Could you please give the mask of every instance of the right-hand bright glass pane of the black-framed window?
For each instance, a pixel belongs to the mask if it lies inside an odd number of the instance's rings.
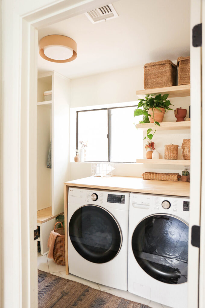
[[[134,118],[135,109],[110,109],[110,161],[134,163],[143,158],[143,132],[134,125],[142,117]]]

